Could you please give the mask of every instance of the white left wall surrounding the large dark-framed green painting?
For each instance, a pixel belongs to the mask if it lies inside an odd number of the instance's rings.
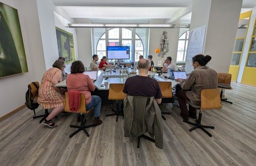
[[[36,1],[0,0],[18,9],[28,73],[0,78],[0,117],[25,103],[25,92],[32,81],[40,81],[46,69]]]

